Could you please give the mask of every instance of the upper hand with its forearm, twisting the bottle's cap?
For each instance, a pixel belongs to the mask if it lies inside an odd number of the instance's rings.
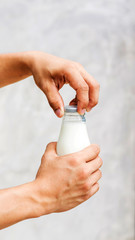
[[[78,113],[84,114],[98,103],[99,84],[80,63],[36,51],[0,55],[0,87],[31,75],[58,117],[64,114],[59,93],[64,84],[76,91],[70,104],[77,104]]]

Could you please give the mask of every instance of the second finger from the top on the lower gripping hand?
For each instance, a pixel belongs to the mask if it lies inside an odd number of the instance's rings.
[[[87,163],[87,172],[89,175],[97,171],[103,164],[102,159],[98,156],[94,160]]]

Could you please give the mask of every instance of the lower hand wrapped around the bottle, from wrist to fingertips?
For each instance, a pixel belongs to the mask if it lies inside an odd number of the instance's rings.
[[[62,212],[89,199],[99,189],[102,160],[98,145],[58,156],[56,143],[47,145],[34,188],[40,215]]]

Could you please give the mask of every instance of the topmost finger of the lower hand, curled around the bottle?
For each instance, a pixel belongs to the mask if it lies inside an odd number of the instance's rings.
[[[99,146],[97,144],[91,144],[79,152],[70,154],[70,157],[76,158],[83,162],[89,162],[95,159],[99,155],[99,153]]]

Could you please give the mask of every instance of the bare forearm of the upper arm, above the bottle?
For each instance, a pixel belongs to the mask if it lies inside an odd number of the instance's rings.
[[[31,76],[28,61],[28,52],[0,54],[0,87]]]

